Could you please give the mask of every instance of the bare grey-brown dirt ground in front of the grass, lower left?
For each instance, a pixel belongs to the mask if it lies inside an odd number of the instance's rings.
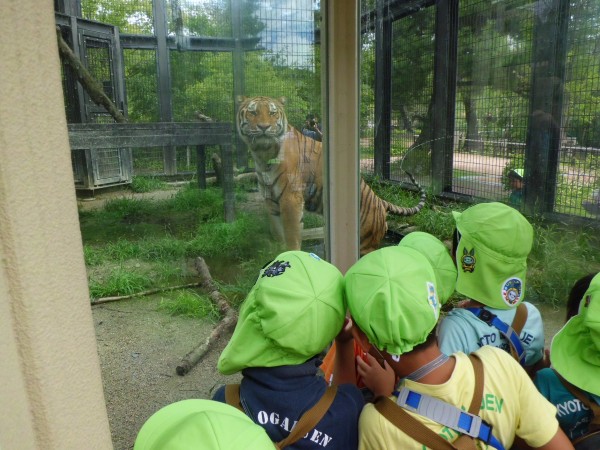
[[[104,396],[115,450],[133,448],[146,419],[178,400],[210,398],[239,376],[223,376],[216,364],[229,336],[222,336],[186,375],[176,367],[204,342],[214,324],[158,310],[160,296],[92,307]]]

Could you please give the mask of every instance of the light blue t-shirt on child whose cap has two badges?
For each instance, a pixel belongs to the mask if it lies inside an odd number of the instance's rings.
[[[544,357],[544,325],[540,311],[531,303],[527,306],[527,321],[519,338],[525,349],[525,365],[531,366]],[[510,325],[517,309],[495,309],[485,307],[500,320]],[[471,311],[454,308],[440,322],[438,327],[440,350],[451,355],[456,352],[472,353],[484,345],[493,345],[510,351],[510,344],[497,328],[480,320]]]

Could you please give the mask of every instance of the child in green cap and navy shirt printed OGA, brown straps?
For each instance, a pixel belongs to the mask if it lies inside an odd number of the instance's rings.
[[[324,397],[328,387],[317,376],[318,355],[342,329],[345,313],[342,274],[312,253],[284,252],[260,271],[218,369],[242,371],[239,400],[233,403],[274,442],[287,438]],[[213,399],[225,401],[225,388]],[[356,386],[338,386],[322,419],[287,448],[356,448],[363,403]]]

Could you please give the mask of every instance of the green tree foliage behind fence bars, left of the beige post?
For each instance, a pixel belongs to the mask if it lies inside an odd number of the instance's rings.
[[[166,1],[166,0],[165,0]],[[237,0],[235,0],[237,1]],[[265,23],[260,20],[259,0],[236,3],[240,29],[232,26],[229,0],[166,1],[169,34],[179,44],[193,37],[239,38],[258,42],[245,52],[244,85],[247,96],[286,97],[290,123],[301,128],[307,114],[321,115],[320,52],[297,58],[297,49],[261,48]],[[121,33],[153,34],[151,0],[83,0],[84,17],[120,28]],[[317,16],[314,16],[318,20]],[[285,20],[282,18],[281,20]],[[249,41],[248,41],[249,40]],[[154,50],[124,51],[128,116],[132,122],[158,120],[158,76]],[[231,52],[170,52],[171,95],[175,121],[197,120],[196,112],[217,121],[234,117],[233,56]]]

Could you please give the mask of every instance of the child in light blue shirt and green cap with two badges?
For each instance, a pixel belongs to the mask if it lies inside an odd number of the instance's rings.
[[[467,300],[441,321],[440,349],[447,355],[469,354],[493,345],[511,352],[533,375],[545,364],[541,314],[523,302],[533,228],[503,203],[481,203],[453,214],[456,291]]]

